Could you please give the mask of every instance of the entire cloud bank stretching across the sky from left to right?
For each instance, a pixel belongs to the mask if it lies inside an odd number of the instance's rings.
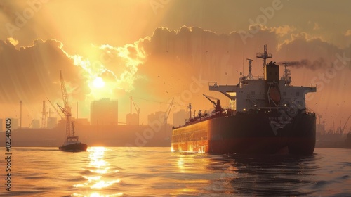
[[[62,42],[55,39],[37,39],[32,46],[20,48],[16,47],[15,39],[7,39],[0,42],[4,71],[0,73],[4,80],[0,89],[5,92],[0,102],[18,103],[22,99],[40,103],[45,97],[60,100],[58,71],[62,70],[70,101],[85,101],[87,114],[90,101],[110,97],[119,100],[123,116],[131,95],[153,101],[176,97],[182,105],[193,102],[196,106],[211,107],[201,95],[220,94],[209,92],[208,82],[237,83],[240,72],[247,75],[246,58],[253,59],[253,75],[262,75],[262,62],[256,53],[263,51],[263,44],[273,55],[270,60],[289,61],[291,67],[298,68],[292,72],[297,77],[310,71],[323,72],[333,65],[337,54],[343,56],[346,51],[348,57],[351,51],[296,32],[295,27],[288,25],[251,28],[259,29],[244,42],[239,31],[217,34],[200,27],[183,26],[178,30],[159,27],[149,37],[131,44],[91,44],[79,54],[67,53]],[[306,83],[314,75],[307,76]],[[107,88],[94,87],[93,81],[98,77]],[[339,78],[343,79],[338,77],[335,81]],[[139,105],[147,108],[145,103]],[[147,109],[143,111],[148,113]]]

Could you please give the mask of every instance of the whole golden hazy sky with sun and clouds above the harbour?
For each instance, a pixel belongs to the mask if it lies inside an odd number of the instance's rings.
[[[317,84],[307,106],[338,126],[351,111],[350,7],[346,0],[0,0],[0,117],[18,117],[22,100],[25,126],[41,118],[46,97],[62,103],[59,70],[79,117],[104,97],[119,100],[125,122],[134,96],[144,125],[173,97],[173,112],[190,102],[211,108],[202,94],[223,97],[207,83],[237,84],[246,58],[262,75],[256,53],[267,44],[272,61],[294,63],[293,85]]]

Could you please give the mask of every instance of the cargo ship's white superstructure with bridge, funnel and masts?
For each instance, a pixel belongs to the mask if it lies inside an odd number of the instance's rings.
[[[234,110],[239,112],[255,108],[298,108],[305,110],[305,95],[316,92],[316,84],[309,87],[291,86],[290,70],[285,65],[284,76],[279,79],[279,65],[273,62],[265,64],[266,58],[272,55],[267,53],[267,46],[264,46],[264,53],[260,54],[264,62],[264,77],[253,77],[251,74],[251,62],[249,60],[249,75],[239,78],[237,85],[218,85],[217,82],[209,82],[210,91],[219,91],[235,103]],[[267,54],[265,54],[267,53]]]

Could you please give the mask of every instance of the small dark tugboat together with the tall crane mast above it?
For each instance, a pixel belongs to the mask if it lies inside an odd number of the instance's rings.
[[[58,147],[58,149],[60,151],[70,151],[70,152],[86,151],[88,146],[78,141],[78,136],[74,136],[73,122],[72,122],[72,132],[71,132],[72,113],[71,113],[71,107],[69,107],[65,81],[63,80],[61,70],[60,70],[60,80],[61,80],[62,98],[63,98],[63,103],[65,104],[65,107],[62,108],[59,104],[57,105],[62,111],[62,113],[65,114],[65,117],[66,117],[66,141],[62,144],[62,146]]]

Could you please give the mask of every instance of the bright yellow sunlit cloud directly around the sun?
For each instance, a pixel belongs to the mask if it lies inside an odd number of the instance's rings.
[[[138,76],[138,66],[143,64],[145,51],[138,47],[139,41],[114,47],[108,44],[91,46],[91,53],[83,56],[69,56],[74,60],[74,65],[84,70],[82,75],[91,84],[96,77],[104,77],[110,89],[122,89],[131,91],[134,89],[134,81]],[[92,87],[91,87],[92,88]],[[113,96],[110,94],[109,96]]]

